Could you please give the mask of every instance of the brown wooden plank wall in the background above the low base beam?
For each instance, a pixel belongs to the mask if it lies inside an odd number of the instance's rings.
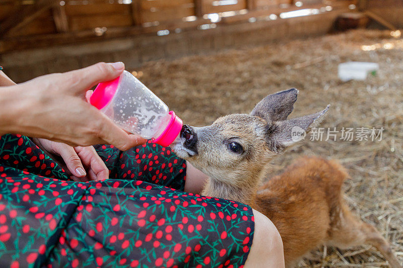
[[[298,2],[298,3],[297,3]],[[240,23],[354,0],[0,0],[0,53],[201,25]],[[301,6],[302,5],[302,6]],[[219,17],[213,22],[209,14]]]

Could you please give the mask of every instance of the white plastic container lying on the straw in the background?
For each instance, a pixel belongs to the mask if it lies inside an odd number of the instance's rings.
[[[365,80],[368,73],[375,75],[377,70],[379,64],[374,62],[344,62],[339,64],[339,78],[342,81]]]

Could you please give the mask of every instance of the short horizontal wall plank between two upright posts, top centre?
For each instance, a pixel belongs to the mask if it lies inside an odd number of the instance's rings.
[[[142,23],[154,22],[154,21],[172,21],[175,19],[182,19],[188,16],[194,16],[194,8],[181,8],[181,9],[164,9],[161,11],[151,12],[142,11],[141,18]]]

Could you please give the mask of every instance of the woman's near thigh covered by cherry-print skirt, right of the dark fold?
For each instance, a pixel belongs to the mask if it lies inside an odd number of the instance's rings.
[[[141,181],[90,184],[48,264],[241,267],[247,257],[248,206]]]

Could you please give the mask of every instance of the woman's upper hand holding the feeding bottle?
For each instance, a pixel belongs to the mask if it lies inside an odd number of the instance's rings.
[[[87,90],[123,69],[122,62],[97,63],[1,88],[0,135],[19,133],[73,146],[113,144],[120,150],[144,144],[86,102]]]

